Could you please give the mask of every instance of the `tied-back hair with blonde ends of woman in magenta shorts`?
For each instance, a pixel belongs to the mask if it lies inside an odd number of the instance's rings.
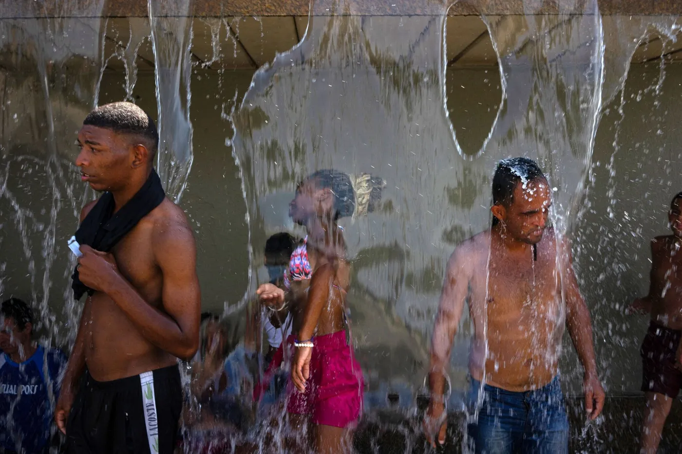
[[[371,213],[379,205],[385,181],[379,177],[362,174],[358,177],[339,170],[318,170],[308,179],[318,187],[331,189],[334,194],[334,220],[340,217]]]

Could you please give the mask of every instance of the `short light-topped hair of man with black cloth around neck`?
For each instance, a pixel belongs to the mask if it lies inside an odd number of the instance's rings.
[[[104,127],[119,134],[130,134],[149,142],[149,160],[153,160],[159,147],[159,132],[149,114],[132,102],[112,102],[98,106],[90,112],[83,125]]]

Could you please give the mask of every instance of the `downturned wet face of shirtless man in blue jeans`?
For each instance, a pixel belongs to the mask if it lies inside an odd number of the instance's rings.
[[[524,243],[537,244],[547,225],[552,196],[545,179],[519,182],[514,188],[514,198],[505,207],[507,232]]]

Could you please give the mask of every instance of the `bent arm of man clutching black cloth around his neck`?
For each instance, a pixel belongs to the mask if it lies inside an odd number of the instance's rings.
[[[140,296],[110,254],[88,246],[80,248],[80,280],[108,294],[149,342],[179,359],[190,359],[198,349],[201,312],[192,230],[184,220],[155,226],[152,250],[162,272],[163,311]]]

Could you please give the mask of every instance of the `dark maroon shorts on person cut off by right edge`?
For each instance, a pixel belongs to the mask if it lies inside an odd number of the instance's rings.
[[[677,347],[682,332],[649,324],[644,336],[642,355],[642,391],[677,397],[682,386],[682,372],[675,365]]]

